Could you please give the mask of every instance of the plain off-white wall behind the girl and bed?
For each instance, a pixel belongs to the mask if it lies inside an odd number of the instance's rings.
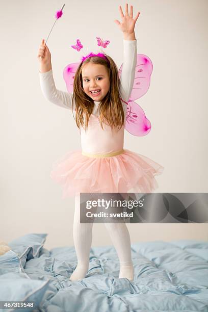
[[[52,163],[81,148],[70,110],[46,101],[39,85],[37,51],[63,0],[2,2],[1,23],[1,218],[0,240],[46,232],[46,248],[73,245],[74,200],[50,179]],[[123,58],[118,6],[106,0],[65,1],[47,45],[58,89],[66,90],[64,67],[80,55],[77,38],[96,51],[96,36],[111,41],[108,54]],[[150,134],[125,133],[125,148],[163,165],[157,192],[207,192],[207,11],[206,0],[132,0],[138,53],[153,63],[150,88],[138,103],[152,123]],[[132,242],[208,239],[207,224],[127,225]],[[94,224],[93,246],[112,244]]]

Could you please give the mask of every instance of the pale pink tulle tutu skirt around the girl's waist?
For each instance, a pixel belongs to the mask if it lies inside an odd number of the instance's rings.
[[[164,168],[144,155],[125,149],[107,158],[70,151],[53,164],[50,177],[63,187],[62,198],[75,193],[148,193],[158,188],[154,176]]]

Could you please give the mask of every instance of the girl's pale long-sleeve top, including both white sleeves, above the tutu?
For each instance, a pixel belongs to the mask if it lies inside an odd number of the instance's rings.
[[[137,63],[137,40],[123,40],[123,68],[119,81],[121,98],[127,102],[129,99],[135,78]],[[41,73],[40,86],[44,97],[54,104],[72,110],[72,93],[57,90],[53,78],[52,69]],[[119,131],[112,129],[103,123],[103,129],[99,122],[99,103],[94,101],[94,109],[90,116],[88,128],[81,127],[81,146],[85,153],[106,154],[123,149],[125,123]],[[74,109],[75,106],[73,106]],[[124,120],[126,118],[126,104],[123,102]]]

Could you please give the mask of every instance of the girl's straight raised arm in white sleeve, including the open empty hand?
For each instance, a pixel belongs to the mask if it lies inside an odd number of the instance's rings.
[[[130,13],[128,14],[128,5],[125,5],[125,16],[121,6],[119,6],[120,15],[122,18],[121,23],[115,20],[120,30],[123,32],[123,68],[120,77],[120,94],[123,100],[127,101],[131,95],[134,78],[135,68],[137,64],[137,40],[135,37],[135,24],[139,17],[140,12],[137,13],[135,19],[133,18],[133,6],[131,6]]]

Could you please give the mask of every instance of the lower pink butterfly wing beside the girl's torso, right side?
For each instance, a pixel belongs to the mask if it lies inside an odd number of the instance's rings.
[[[146,136],[151,130],[151,123],[143,109],[134,101],[127,102],[126,105],[125,129],[134,136]]]

